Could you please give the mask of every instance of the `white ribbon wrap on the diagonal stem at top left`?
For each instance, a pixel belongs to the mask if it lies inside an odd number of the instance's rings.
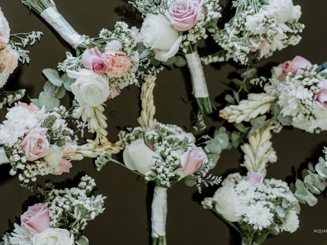
[[[45,9],[40,15],[66,42],[74,47],[75,50],[83,42],[83,36],[74,30],[74,28],[58,12],[56,7]]]

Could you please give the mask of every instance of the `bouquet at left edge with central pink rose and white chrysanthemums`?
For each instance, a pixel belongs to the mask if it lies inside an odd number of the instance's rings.
[[[10,175],[22,170],[19,180],[25,183],[36,181],[37,175],[69,173],[77,136],[67,127],[67,116],[63,106],[45,111],[16,103],[0,125],[0,164],[11,164]]]

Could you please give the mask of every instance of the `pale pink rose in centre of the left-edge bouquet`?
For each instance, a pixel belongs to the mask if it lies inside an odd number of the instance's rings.
[[[28,161],[35,161],[48,154],[50,145],[46,139],[48,129],[32,129],[21,142],[21,148],[25,152]]]

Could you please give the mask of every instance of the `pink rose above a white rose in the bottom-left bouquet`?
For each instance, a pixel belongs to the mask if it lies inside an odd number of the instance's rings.
[[[34,233],[41,233],[50,228],[49,209],[45,205],[30,206],[20,216],[21,226]]]

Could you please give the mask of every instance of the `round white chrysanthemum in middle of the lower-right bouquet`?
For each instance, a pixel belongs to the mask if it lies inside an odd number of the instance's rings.
[[[246,208],[244,221],[254,226],[254,229],[267,228],[273,222],[273,214],[270,212],[269,208],[264,207],[260,202],[256,204],[251,204]]]

